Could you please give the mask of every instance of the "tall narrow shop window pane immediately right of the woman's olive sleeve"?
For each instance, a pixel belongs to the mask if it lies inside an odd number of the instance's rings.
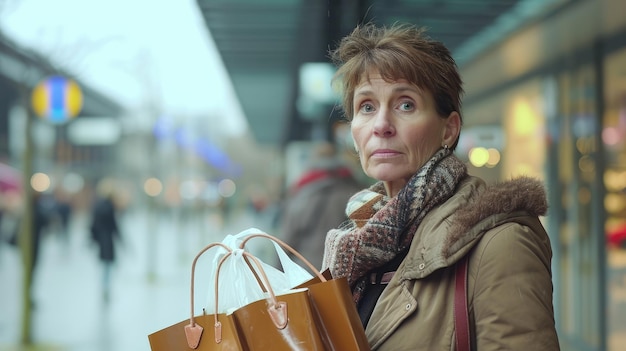
[[[604,233],[597,208],[602,191],[598,188],[604,165],[599,157],[597,87],[591,64],[567,71],[558,79],[559,140],[556,147],[560,201],[555,204],[559,218],[557,265],[560,331],[577,345],[598,347],[602,342],[599,318],[603,299],[603,259],[598,243]]]

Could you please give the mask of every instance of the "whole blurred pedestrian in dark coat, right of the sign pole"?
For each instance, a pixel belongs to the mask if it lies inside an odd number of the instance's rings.
[[[102,263],[102,298],[108,302],[111,296],[111,274],[115,262],[115,245],[121,240],[117,221],[115,188],[108,180],[101,181],[92,209],[91,238],[98,245]]]

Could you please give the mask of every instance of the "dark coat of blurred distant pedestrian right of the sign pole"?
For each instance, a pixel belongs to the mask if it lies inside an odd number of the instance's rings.
[[[115,204],[110,197],[96,200],[91,221],[92,239],[100,247],[100,259],[115,260],[115,240],[120,239]]]

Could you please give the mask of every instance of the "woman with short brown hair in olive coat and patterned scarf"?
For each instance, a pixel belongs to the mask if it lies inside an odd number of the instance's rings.
[[[355,147],[377,182],[326,237],[373,350],[458,350],[455,274],[467,259],[472,350],[558,350],[542,184],[486,184],[453,154],[462,82],[423,29],[358,26],[331,52]],[[465,333],[463,333],[465,334]]]

